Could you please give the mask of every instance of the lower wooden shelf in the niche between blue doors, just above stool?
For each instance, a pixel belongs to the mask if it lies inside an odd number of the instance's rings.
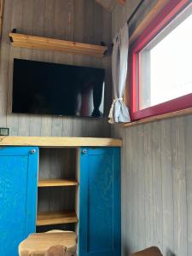
[[[38,212],[37,226],[78,223],[76,212]]]

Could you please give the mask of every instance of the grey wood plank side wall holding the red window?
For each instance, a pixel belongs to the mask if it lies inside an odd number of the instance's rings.
[[[145,1],[146,6],[149,8],[152,2],[155,1]],[[113,35],[137,3],[129,0],[125,9],[118,6],[113,10]],[[122,137],[124,142],[123,256],[149,246],[160,247],[165,256],[192,255],[191,127],[191,115],[128,128],[114,127],[113,136]]]

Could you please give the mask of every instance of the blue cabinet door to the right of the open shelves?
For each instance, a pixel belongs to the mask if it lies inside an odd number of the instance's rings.
[[[120,256],[119,148],[81,148],[79,256]]]

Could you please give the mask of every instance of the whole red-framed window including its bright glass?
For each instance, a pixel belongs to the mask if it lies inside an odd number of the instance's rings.
[[[192,107],[192,4],[171,0],[131,47],[131,118]]]

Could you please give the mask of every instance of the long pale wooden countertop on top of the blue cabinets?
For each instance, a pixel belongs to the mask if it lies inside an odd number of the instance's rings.
[[[0,146],[122,147],[121,139],[96,137],[0,137]]]

